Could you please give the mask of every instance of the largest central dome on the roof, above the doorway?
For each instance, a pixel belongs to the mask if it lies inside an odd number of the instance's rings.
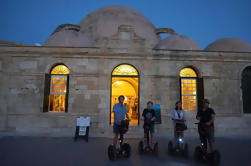
[[[109,6],[90,13],[81,21],[80,32],[97,41],[112,37],[120,25],[133,26],[135,33],[146,39],[145,42],[152,48],[159,41],[154,25],[145,16],[122,6]]]

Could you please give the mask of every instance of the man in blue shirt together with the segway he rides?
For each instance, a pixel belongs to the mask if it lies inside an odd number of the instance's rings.
[[[113,125],[113,145],[108,147],[108,157],[110,160],[115,160],[120,157],[129,158],[131,147],[128,143],[124,143],[124,134],[128,131],[129,116],[126,107],[123,105],[124,96],[119,96],[119,103],[113,106],[114,125]],[[126,119],[125,119],[126,118]],[[119,147],[117,148],[117,140],[119,136]]]

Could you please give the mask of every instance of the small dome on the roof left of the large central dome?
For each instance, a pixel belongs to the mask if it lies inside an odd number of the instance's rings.
[[[62,47],[93,47],[93,43],[82,33],[75,30],[63,29],[54,32],[47,41],[45,46],[62,46]]]

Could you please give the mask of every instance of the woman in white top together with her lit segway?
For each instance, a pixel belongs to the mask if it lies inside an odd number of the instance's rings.
[[[175,109],[171,112],[174,124],[174,140],[168,143],[168,154],[179,154],[188,156],[188,144],[184,140],[184,130],[187,129],[185,124],[185,111],[182,110],[181,102],[175,103]]]

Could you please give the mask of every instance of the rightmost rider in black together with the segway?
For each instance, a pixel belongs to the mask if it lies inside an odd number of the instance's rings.
[[[194,158],[197,161],[206,161],[214,166],[220,163],[220,152],[214,150],[214,119],[215,112],[209,107],[209,100],[204,99],[203,109],[199,110],[196,119],[199,120],[198,132],[201,145],[195,148]],[[209,145],[209,146],[208,146]]]

